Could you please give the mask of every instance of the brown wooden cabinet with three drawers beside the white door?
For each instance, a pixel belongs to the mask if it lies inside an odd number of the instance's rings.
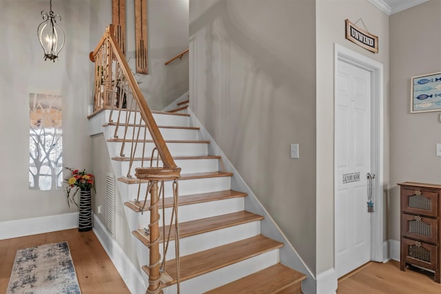
[[[401,262],[435,273],[441,282],[441,185],[399,183],[401,189]]]

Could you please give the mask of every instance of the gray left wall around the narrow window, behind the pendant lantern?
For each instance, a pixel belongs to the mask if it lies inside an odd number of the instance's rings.
[[[75,211],[65,189],[29,189],[29,93],[63,96],[63,165],[91,171],[88,136],[90,1],[55,1],[65,30],[59,60],[43,61],[37,39],[49,1],[0,1],[0,222]],[[67,177],[67,175],[65,176]]]

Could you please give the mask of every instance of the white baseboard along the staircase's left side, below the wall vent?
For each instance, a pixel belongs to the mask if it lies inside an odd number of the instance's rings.
[[[101,220],[94,215],[94,233],[101,245],[103,245],[105,252],[109,255],[116,270],[123,278],[130,293],[145,293],[147,286],[144,283],[143,277],[139,270],[132,264],[123,249],[113,240],[112,236],[107,233]]]

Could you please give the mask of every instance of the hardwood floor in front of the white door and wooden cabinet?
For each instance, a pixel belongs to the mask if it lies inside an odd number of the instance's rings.
[[[433,282],[418,269],[400,271],[400,262],[391,260],[386,264],[369,262],[360,269],[338,280],[338,294],[439,294],[441,284]]]

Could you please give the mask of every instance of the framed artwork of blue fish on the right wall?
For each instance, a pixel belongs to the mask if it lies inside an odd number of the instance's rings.
[[[411,114],[441,112],[441,72],[413,76]]]

